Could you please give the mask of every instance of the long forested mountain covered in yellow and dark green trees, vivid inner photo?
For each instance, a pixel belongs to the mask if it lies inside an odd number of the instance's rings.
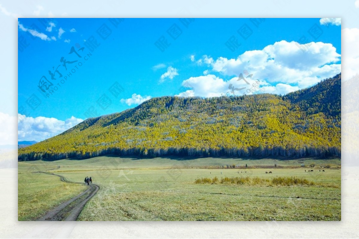
[[[341,74],[284,96],[153,98],[84,120],[18,158],[340,156],[340,90]]]

